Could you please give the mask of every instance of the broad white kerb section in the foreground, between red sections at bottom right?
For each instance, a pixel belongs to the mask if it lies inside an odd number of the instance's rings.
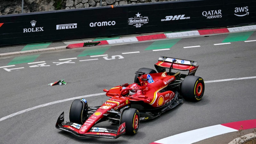
[[[167,138],[157,140],[156,143],[161,144],[188,144],[194,143],[200,140],[204,140],[207,138],[211,138],[220,134],[228,133],[228,132],[236,132],[238,130],[223,126],[221,124],[208,126],[188,132],[179,133],[173,136],[169,136]],[[196,133],[196,137],[195,137]]]

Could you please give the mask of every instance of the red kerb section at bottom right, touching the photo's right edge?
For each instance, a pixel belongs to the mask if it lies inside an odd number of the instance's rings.
[[[243,130],[252,129],[252,128],[256,128],[256,119],[226,123],[226,124],[221,124],[221,125],[227,126],[227,127],[230,127],[230,128],[236,129],[236,130],[241,129],[241,127],[240,127],[241,125],[243,125]]]

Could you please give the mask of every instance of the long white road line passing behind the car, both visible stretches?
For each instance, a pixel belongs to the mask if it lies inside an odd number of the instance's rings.
[[[252,79],[252,78],[256,78],[256,76],[220,79],[220,80],[212,80],[212,81],[204,81],[204,83],[216,83],[216,82],[225,82],[225,81]],[[104,94],[106,94],[106,92],[96,93],[96,94],[89,94],[89,95],[83,95],[83,96],[79,96],[79,97],[74,97],[74,98],[68,98],[68,99],[64,99],[64,100],[57,100],[57,101],[49,102],[49,103],[46,103],[46,104],[42,104],[42,105],[39,105],[39,106],[35,106],[35,107],[32,107],[32,108],[28,108],[28,109],[24,109],[24,110],[18,111],[16,113],[13,113],[13,114],[8,115],[8,116],[4,116],[4,117],[2,117],[0,119],[0,122],[5,120],[5,119],[7,119],[7,118],[10,118],[10,117],[13,117],[13,116],[17,116],[19,114],[22,114],[22,113],[25,113],[25,112],[28,112],[28,111],[31,111],[31,110],[34,110],[34,109],[37,109],[37,108],[42,108],[42,107],[50,106],[50,105],[57,104],[57,103],[64,102],[64,101],[81,99],[81,98],[87,98],[87,97],[93,97],[93,96],[99,96],[99,95],[104,95]]]

